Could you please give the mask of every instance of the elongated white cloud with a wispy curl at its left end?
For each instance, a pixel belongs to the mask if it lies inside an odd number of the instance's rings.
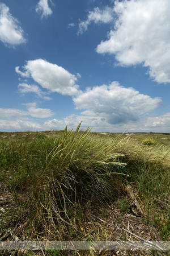
[[[57,64],[37,59],[29,60],[23,67],[24,72],[15,68],[15,71],[23,77],[32,77],[42,88],[63,95],[75,96],[80,93],[79,86],[75,81],[80,77],[79,73],[75,76]]]

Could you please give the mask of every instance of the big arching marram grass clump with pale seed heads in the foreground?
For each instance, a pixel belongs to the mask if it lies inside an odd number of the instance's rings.
[[[126,142],[93,137],[89,128],[80,130],[80,124],[75,131],[66,127],[56,138],[3,141],[1,179],[20,209],[15,218],[27,220],[27,234],[41,230],[52,235],[61,222],[70,225],[73,212],[88,201],[112,201],[116,170],[126,165],[117,150]]]

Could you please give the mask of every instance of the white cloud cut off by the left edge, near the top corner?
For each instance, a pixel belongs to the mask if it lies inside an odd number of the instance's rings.
[[[26,42],[18,19],[12,17],[4,3],[0,3],[0,40],[6,46],[13,47]]]

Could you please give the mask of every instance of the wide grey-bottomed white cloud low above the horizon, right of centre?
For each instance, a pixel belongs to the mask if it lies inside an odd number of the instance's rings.
[[[118,82],[87,88],[73,101],[76,109],[86,109],[82,114],[99,114],[112,125],[138,121],[140,115],[151,112],[162,102],[158,97],[151,98],[134,88],[125,88]]]

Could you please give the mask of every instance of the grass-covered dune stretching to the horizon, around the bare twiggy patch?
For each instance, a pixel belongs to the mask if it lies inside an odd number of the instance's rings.
[[[21,241],[82,241],[91,207],[106,210],[130,184],[145,220],[169,240],[169,142],[169,134],[97,134],[80,124],[76,131],[0,133],[0,181],[10,195],[7,207],[1,201],[0,239],[11,228]]]

